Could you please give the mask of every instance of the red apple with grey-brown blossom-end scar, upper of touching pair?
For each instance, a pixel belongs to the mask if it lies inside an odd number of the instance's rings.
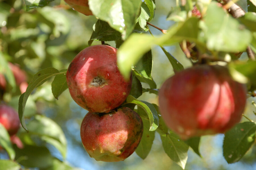
[[[117,67],[117,49],[94,45],[82,50],[70,63],[67,84],[74,101],[89,112],[109,112],[121,105],[130,93]]]

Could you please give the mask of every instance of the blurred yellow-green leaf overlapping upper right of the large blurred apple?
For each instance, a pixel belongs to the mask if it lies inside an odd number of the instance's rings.
[[[237,78],[236,75],[234,75],[234,71],[236,70],[242,75],[246,76],[249,78],[250,83],[251,83],[251,89],[255,90],[256,89],[256,61],[247,61],[247,62],[233,62],[229,64],[229,69],[230,73],[233,76],[235,80],[240,82],[239,77]],[[244,82],[241,82],[244,83]]]

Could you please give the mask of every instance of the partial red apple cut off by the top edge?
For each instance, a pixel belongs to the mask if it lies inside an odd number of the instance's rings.
[[[89,8],[88,0],[64,0],[69,6],[74,10],[84,14],[84,15],[93,15],[92,11]]]

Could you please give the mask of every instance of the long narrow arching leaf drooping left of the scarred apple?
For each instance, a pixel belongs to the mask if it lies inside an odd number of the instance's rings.
[[[36,87],[42,85],[51,76],[55,76],[57,74],[59,74],[59,71],[53,67],[49,67],[37,72],[33,76],[31,82],[28,84],[26,92],[20,95],[18,112],[19,112],[20,123],[26,131],[28,131],[28,129],[26,128],[26,123],[24,120],[24,109],[25,109],[26,102],[28,100],[28,96]]]

